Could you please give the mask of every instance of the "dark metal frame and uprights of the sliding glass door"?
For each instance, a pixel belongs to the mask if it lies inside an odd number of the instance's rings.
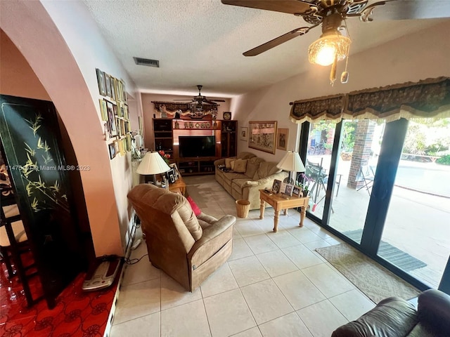
[[[387,211],[389,210],[395,176],[401,158],[401,151],[403,150],[404,138],[406,137],[406,131],[408,129],[408,120],[402,118],[397,121],[386,123],[385,133],[380,147],[380,156],[378,157],[378,166],[375,171],[372,193],[366,213],[366,221],[361,237],[361,244],[354,242],[352,239],[345,236],[345,234],[342,234],[342,232],[335,230],[335,228],[328,225],[331,205],[333,203],[333,189],[335,187],[343,124],[343,121],[340,121],[336,124],[335,128],[335,138],[333,140],[333,150],[331,152],[329,179],[322,218],[314,216],[314,214],[309,211],[307,211],[307,218],[313,220],[314,223],[321,225],[321,227],[342,239],[342,241],[350,244],[380,263],[380,265],[383,265],[387,270],[390,270],[395,275],[401,277],[401,279],[409,282],[409,284],[416,286],[419,290],[424,291],[430,289],[430,286],[427,284],[420,282],[420,280],[409,275],[396,265],[393,265],[389,261],[378,256],[378,246],[381,242],[383,228],[387,218]],[[310,126],[311,124],[308,121],[303,122],[301,126],[299,154],[303,162],[306,162],[307,159]],[[450,294],[450,257],[449,260],[447,260],[446,268],[438,289]]]

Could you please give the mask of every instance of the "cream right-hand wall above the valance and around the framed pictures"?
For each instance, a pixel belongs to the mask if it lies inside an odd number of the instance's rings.
[[[449,34],[450,20],[351,55],[347,84],[339,82],[344,62],[338,65],[338,80],[334,86],[329,84],[330,67],[311,65],[309,72],[233,98],[233,119],[238,119],[239,126],[248,126],[248,121],[277,120],[278,128],[289,128],[288,150],[292,150],[298,145],[300,128],[289,120],[290,102],[407,81],[450,77]],[[269,154],[248,149],[245,141],[238,140],[238,152],[247,150],[269,161],[279,161],[285,154],[283,150]]]

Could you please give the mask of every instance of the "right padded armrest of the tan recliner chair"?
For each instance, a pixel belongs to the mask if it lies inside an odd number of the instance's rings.
[[[234,223],[236,223],[236,217],[224,216],[203,230],[202,237],[195,242],[188,253],[188,260],[191,260],[194,269],[219,251],[226,242],[233,239]]]

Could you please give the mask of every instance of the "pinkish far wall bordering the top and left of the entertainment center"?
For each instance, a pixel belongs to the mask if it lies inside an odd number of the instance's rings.
[[[202,95],[206,95],[202,93]],[[152,118],[153,114],[155,113],[155,107],[153,105],[153,101],[159,101],[159,102],[172,102],[173,100],[191,100],[194,95],[190,96],[184,96],[184,95],[164,95],[164,94],[157,94],[157,93],[142,93],[142,111],[143,111],[143,122],[144,122],[144,144],[145,147],[149,150],[155,150],[154,144],[153,144],[153,124],[152,124]],[[210,97],[206,95],[206,97],[210,100],[217,100],[222,99],[226,102],[220,102],[217,119],[222,119],[224,111],[231,111],[231,117],[234,118],[233,111],[230,110],[231,105],[231,98],[220,98],[220,97]],[[186,101],[188,103],[189,101]]]

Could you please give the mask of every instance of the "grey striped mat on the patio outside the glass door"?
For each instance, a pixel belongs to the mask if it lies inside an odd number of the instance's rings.
[[[363,230],[349,230],[347,232],[342,232],[342,234],[345,234],[346,237],[349,237],[354,242],[359,243],[361,242]],[[380,242],[378,255],[385,260],[388,260],[390,263],[397,265],[397,267],[403,269],[405,272],[411,272],[411,270],[427,266],[423,261],[418,260],[414,256],[409,255],[409,253],[405,253],[383,240]]]

